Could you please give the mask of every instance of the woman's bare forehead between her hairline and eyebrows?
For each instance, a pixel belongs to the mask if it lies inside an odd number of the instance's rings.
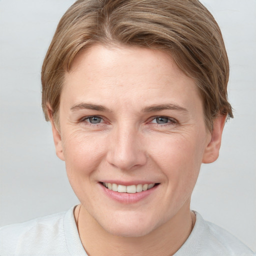
[[[189,104],[187,99],[199,99],[194,80],[165,51],[100,44],[92,45],[74,59],[70,72],[65,73],[62,98],[63,95],[68,95],[69,101],[101,101],[107,105],[153,101]]]

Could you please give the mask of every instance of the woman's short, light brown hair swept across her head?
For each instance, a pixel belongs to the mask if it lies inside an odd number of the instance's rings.
[[[162,49],[194,78],[205,124],[221,114],[233,117],[227,101],[228,58],[220,29],[198,0],[77,0],[62,16],[41,72],[42,108],[58,119],[64,72],[78,52],[93,43]],[[58,121],[56,121],[58,122]]]

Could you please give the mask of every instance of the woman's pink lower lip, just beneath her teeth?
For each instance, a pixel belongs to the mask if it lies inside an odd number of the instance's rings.
[[[117,191],[110,190],[106,188],[104,185],[99,183],[101,188],[103,189],[103,192],[110,197],[111,199],[114,199],[118,202],[125,203],[125,204],[130,204],[130,203],[135,203],[138,202],[145,197],[149,196],[151,193],[153,193],[159,185],[153,186],[152,188],[141,191],[141,192],[136,192],[136,193],[120,193]]]

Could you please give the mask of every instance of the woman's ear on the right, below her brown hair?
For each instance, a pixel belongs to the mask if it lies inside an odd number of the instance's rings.
[[[210,141],[205,147],[202,163],[214,162],[218,158],[221,144],[221,135],[224,128],[226,115],[219,115],[213,123],[213,130],[210,134]]]

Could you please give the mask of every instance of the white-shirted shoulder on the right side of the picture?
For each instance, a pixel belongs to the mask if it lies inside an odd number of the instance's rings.
[[[195,212],[194,228],[175,256],[179,255],[219,255],[219,256],[255,256],[245,244],[225,229],[205,221]],[[189,252],[189,253],[188,253]],[[185,253],[185,254],[184,254]]]

